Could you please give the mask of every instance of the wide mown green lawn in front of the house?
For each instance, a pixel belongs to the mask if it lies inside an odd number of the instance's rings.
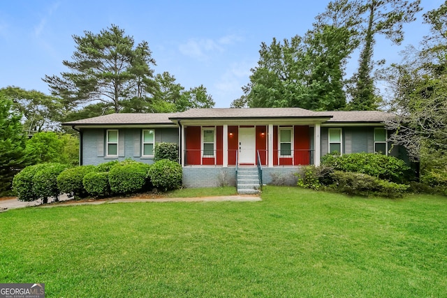
[[[0,283],[45,283],[46,297],[447,297],[447,198],[262,198],[10,210]]]

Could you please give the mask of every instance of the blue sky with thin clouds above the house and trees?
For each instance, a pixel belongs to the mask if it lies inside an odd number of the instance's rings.
[[[442,0],[423,0],[424,12]],[[303,35],[328,1],[85,1],[14,0],[0,2],[0,88],[17,86],[49,94],[45,75],[66,71],[64,59],[75,50],[72,35],[99,33],[117,24],[146,40],[156,60],[155,73],[168,71],[189,89],[203,84],[216,107],[229,107],[242,95],[256,66],[261,42]],[[422,13],[404,27],[401,46],[379,38],[375,59],[400,61],[405,45],[418,45],[428,33]],[[354,54],[347,72],[356,67]]]

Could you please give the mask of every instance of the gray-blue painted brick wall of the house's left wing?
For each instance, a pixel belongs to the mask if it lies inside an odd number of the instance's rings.
[[[155,143],[173,142],[178,144],[177,128],[145,128],[152,129],[155,133]],[[106,156],[106,129],[88,128],[82,129],[82,165],[98,165],[108,161],[124,161],[132,158],[142,163],[154,163],[154,157],[142,156],[142,129],[119,128],[119,154],[118,156]]]

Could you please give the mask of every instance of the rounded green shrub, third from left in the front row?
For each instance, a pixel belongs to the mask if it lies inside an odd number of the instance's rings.
[[[79,165],[61,172],[57,177],[57,186],[61,193],[73,193],[76,197],[84,198],[87,196],[82,180],[85,174],[95,172],[94,165]]]

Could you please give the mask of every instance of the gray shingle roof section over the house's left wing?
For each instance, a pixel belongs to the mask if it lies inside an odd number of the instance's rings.
[[[66,122],[63,125],[101,125],[101,124],[173,124],[172,113],[115,113],[99,117]]]

